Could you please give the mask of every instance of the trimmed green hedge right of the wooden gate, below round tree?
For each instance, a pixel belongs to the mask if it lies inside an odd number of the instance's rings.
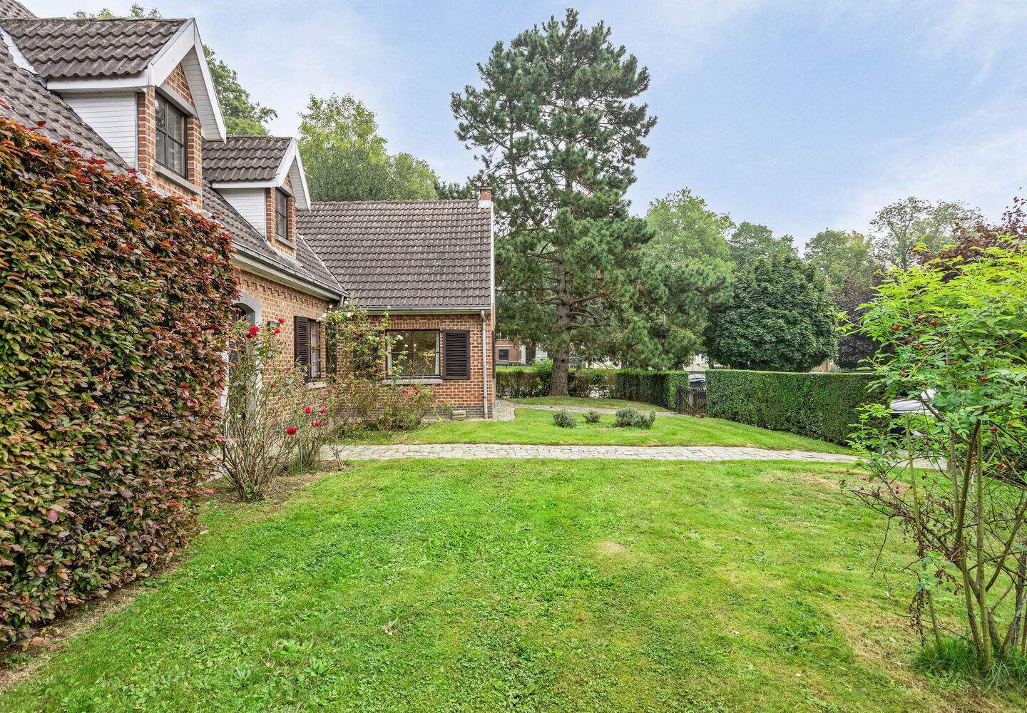
[[[845,443],[857,409],[878,401],[872,374],[714,369],[707,372],[707,413],[773,430]]]

